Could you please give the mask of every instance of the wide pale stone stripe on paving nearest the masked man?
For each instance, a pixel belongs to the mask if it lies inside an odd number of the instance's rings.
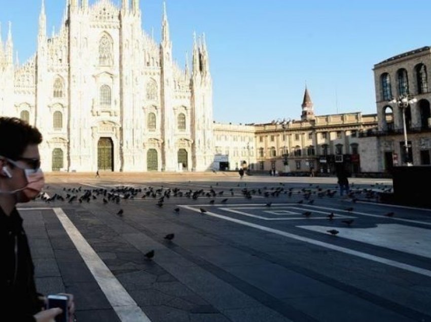
[[[148,316],[137,306],[136,302],[127,293],[118,279],[106,267],[100,257],[87,243],[84,236],[78,231],[61,208],[53,208],[67,234],[78,249],[85,264],[93,274],[97,284],[102,289],[107,300],[111,303],[118,317],[123,322],[151,322]]]

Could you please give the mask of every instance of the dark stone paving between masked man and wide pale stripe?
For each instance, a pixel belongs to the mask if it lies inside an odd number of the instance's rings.
[[[74,294],[80,322],[119,321],[54,213],[20,213],[33,256],[38,291],[44,295]]]

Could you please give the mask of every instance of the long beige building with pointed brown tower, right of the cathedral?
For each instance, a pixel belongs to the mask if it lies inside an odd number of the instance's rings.
[[[377,166],[368,150],[373,142],[363,145],[361,139],[363,133],[377,129],[377,115],[314,115],[307,89],[300,119],[254,126],[257,170],[327,175],[335,172],[337,162],[343,162],[351,173],[373,172]]]

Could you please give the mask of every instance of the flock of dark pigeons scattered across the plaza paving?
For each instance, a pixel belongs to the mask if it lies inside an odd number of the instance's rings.
[[[218,186],[218,183],[215,183],[216,186]],[[239,187],[239,184],[237,185]],[[351,185],[351,187],[354,187],[354,184]],[[377,189],[376,189],[377,187]],[[46,189],[49,189],[49,186],[46,187]],[[390,191],[390,187],[384,186],[384,185],[371,185],[371,188],[362,188],[362,189],[352,189],[348,195],[348,197],[351,199],[353,203],[356,202],[358,199],[358,196],[363,196],[368,200],[371,199],[378,199],[378,193],[377,191],[383,191],[388,192]],[[288,198],[292,198],[294,194],[302,197],[297,204],[304,204],[307,203],[309,205],[312,205],[314,203],[315,197],[317,198],[324,198],[324,197],[334,197],[334,195],[337,193],[337,187],[334,189],[324,189],[321,188],[319,185],[313,186],[310,184],[308,188],[301,188],[296,191],[293,187],[285,187],[284,183],[279,183],[278,187],[262,187],[262,188],[247,188],[246,184],[244,185],[244,188],[231,188],[229,189],[229,193],[231,196],[235,195],[235,190],[239,190],[240,195],[242,195],[246,199],[252,199],[253,196],[259,195],[266,198],[271,197],[279,197],[280,195],[285,195]],[[63,196],[65,194],[65,196]],[[67,202],[69,204],[72,204],[74,202],[78,202],[80,204],[82,203],[90,203],[90,201],[97,201],[102,200],[103,204],[117,204],[119,205],[121,200],[127,200],[127,199],[135,199],[135,198],[152,198],[156,199],[157,203],[156,206],[159,208],[163,208],[164,202],[166,199],[169,199],[170,197],[185,197],[192,200],[197,200],[198,198],[209,198],[209,205],[214,205],[217,197],[222,198],[225,196],[224,190],[215,191],[215,189],[212,186],[209,186],[209,190],[204,189],[198,189],[198,190],[182,190],[179,188],[165,188],[164,186],[161,186],[160,188],[155,187],[144,187],[144,188],[134,188],[129,186],[117,186],[115,188],[111,189],[105,189],[105,188],[97,188],[97,189],[83,189],[82,187],[78,188],[63,188],[63,193],[54,193],[52,197],[49,197],[46,192],[42,192],[39,197],[44,200],[46,203],[51,202]],[[314,197],[314,198],[313,198]],[[220,200],[221,204],[226,204],[228,202],[228,198],[223,198]],[[265,206],[271,207],[272,202],[268,202]],[[178,214],[180,211],[179,208],[174,208],[173,212]],[[352,212],[353,207],[348,207],[345,209],[347,212]],[[200,208],[201,214],[207,213],[207,210],[204,208]],[[312,215],[312,212],[305,211],[303,215],[306,218],[309,218]],[[123,218],[124,216],[124,210],[120,209],[117,212],[117,216],[120,218]],[[387,213],[387,217],[394,216],[393,212]],[[332,221],[334,220],[335,214],[332,212],[328,216],[328,220]],[[346,224],[347,226],[351,226],[354,222],[353,219],[348,220],[342,220],[342,223]],[[337,235],[339,233],[336,229],[328,230],[331,235]],[[167,234],[164,239],[168,242],[171,242],[175,237],[174,233]],[[146,253],[144,256],[146,259],[151,260],[155,255],[155,251],[151,250],[150,252]]]

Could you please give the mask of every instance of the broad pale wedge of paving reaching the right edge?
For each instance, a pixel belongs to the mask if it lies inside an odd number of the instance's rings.
[[[299,228],[327,233],[332,227],[327,226],[297,226]],[[377,224],[370,228],[340,228],[339,238],[348,238],[356,242],[381,246],[396,251],[431,258],[431,235],[429,229],[400,224]]]

